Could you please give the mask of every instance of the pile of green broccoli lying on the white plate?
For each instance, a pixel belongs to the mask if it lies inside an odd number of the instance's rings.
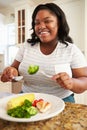
[[[7,110],[7,114],[16,118],[30,118],[38,113],[38,110],[32,106],[32,102],[25,100],[22,106]]]

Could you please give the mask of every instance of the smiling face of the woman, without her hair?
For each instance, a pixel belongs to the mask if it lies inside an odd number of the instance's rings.
[[[43,43],[57,39],[58,20],[57,16],[49,10],[40,10],[35,18],[35,33]]]

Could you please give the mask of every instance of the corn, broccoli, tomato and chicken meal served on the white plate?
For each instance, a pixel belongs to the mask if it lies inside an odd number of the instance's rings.
[[[39,112],[46,112],[50,108],[50,102],[35,99],[33,93],[11,98],[7,102],[7,114],[16,118],[30,118]]]

